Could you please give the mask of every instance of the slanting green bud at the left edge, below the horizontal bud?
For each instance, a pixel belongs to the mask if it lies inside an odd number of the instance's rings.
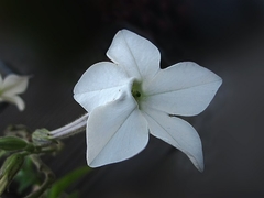
[[[0,196],[20,170],[23,162],[24,155],[21,153],[14,153],[4,161],[0,169]]]

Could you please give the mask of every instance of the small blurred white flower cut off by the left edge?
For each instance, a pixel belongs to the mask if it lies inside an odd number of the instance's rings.
[[[25,91],[29,84],[29,77],[8,75],[4,79],[0,74],[0,102],[10,102],[18,106],[22,111],[25,108],[24,101],[18,95]]]

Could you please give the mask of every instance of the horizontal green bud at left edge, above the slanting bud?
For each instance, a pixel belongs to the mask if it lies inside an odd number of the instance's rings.
[[[0,138],[0,150],[15,151],[25,148],[28,143],[16,136],[2,136]]]

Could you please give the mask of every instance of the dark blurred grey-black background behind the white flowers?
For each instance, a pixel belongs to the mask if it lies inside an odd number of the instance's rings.
[[[186,118],[201,138],[206,168],[199,173],[185,154],[151,138],[135,157],[95,168],[69,190],[89,198],[263,197],[260,0],[1,0],[1,64],[32,78],[25,110],[1,109],[0,134],[10,123],[53,130],[85,113],[73,88],[90,65],[107,61],[121,29],[152,41],[162,67],[193,61],[223,78],[208,109]],[[58,156],[44,157],[58,178],[86,165],[85,133],[64,143]]]

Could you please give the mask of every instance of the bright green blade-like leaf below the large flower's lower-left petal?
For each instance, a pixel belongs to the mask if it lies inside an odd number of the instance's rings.
[[[84,175],[88,174],[91,170],[88,166],[79,167],[67,175],[65,175],[63,178],[58,179],[54,183],[52,188],[50,189],[48,198],[58,198],[59,195],[67,189],[72,184],[74,184],[76,180],[78,180]]]

